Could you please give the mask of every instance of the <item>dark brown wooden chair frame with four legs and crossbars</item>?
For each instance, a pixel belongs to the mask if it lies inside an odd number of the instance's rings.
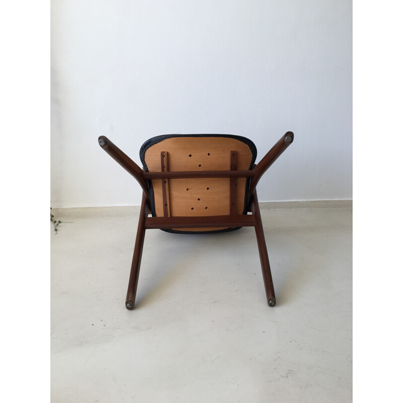
[[[135,307],[137,285],[139,282],[140,264],[143,253],[144,237],[146,229],[174,229],[174,228],[212,228],[212,227],[254,227],[260,256],[261,270],[263,274],[264,288],[268,306],[276,305],[276,295],[273,286],[272,272],[268,260],[266,242],[264,240],[263,225],[256,194],[256,185],[261,176],[280,157],[280,155],[293,142],[294,133],[288,131],[268,151],[261,161],[251,170],[227,170],[227,171],[172,171],[172,172],[145,172],[107,137],[100,136],[98,143],[118,164],[130,173],[143,189],[142,204],[140,209],[139,225],[137,229],[135,250],[131,262],[129,283],[127,288],[125,306],[128,310]],[[204,217],[149,217],[151,213],[151,197],[148,181],[151,179],[178,179],[178,178],[250,178],[250,186],[247,197],[247,212],[252,214],[232,214],[222,216]]]

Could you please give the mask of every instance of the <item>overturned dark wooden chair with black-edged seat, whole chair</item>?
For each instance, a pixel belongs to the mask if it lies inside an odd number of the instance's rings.
[[[244,137],[158,136],[141,147],[142,170],[105,136],[99,137],[101,148],[143,189],[127,309],[135,307],[146,229],[157,228],[171,233],[213,234],[254,227],[267,304],[276,305],[256,185],[293,140],[294,133],[288,131],[256,165],[256,147]]]

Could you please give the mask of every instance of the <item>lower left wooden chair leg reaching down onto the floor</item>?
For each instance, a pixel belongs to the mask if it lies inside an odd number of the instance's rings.
[[[131,261],[131,270],[129,277],[129,285],[127,287],[126,308],[132,310],[135,308],[137,284],[139,282],[140,264],[142,261],[144,236],[146,235],[145,222],[146,217],[150,213],[150,206],[146,195],[143,193],[142,206],[140,209],[139,226],[137,228],[135,251]]]

